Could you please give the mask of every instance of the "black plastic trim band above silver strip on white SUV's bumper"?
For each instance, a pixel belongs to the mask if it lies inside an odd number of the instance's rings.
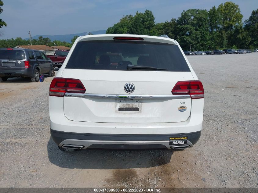
[[[59,145],[66,139],[98,141],[168,141],[170,137],[187,136],[193,145],[199,140],[201,131],[180,134],[89,134],[71,133],[50,129],[51,137]]]

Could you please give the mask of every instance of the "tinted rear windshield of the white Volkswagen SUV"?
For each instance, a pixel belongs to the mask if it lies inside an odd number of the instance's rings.
[[[177,45],[138,41],[78,42],[66,68],[150,70],[127,69],[128,65],[149,66],[159,68],[160,71],[190,71]]]

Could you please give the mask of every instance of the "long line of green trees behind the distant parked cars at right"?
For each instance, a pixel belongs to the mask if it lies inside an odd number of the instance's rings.
[[[139,34],[176,39],[184,50],[214,50],[221,48],[258,47],[258,9],[245,22],[239,6],[225,2],[217,8],[188,9],[178,19],[155,23],[150,10],[123,16],[107,34]]]

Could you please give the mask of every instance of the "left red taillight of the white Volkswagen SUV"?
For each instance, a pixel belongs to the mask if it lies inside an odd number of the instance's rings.
[[[49,87],[49,96],[63,97],[66,92],[85,93],[81,80],[55,77]]]

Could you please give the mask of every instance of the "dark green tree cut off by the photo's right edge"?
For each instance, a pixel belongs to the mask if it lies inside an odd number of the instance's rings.
[[[249,34],[251,46],[258,46],[258,9],[253,10],[248,20],[245,20],[245,31]]]

